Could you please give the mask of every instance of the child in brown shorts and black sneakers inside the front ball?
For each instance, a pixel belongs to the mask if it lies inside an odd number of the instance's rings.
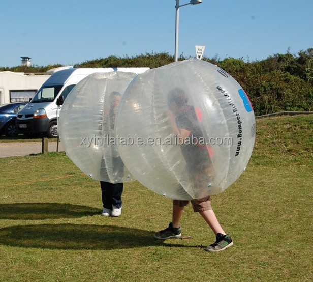
[[[175,88],[168,94],[169,119],[175,134],[183,140],[202,136],[201,127],[193,106],[188,105],[188,96],[180,88]],[[203,136],[202,136],[203,137]],[[198,139],[198,140],[199,140]],[[188,144],[188,145],[186,145]],[[194,185],[203,185],[212,181],[214,177],[210,152],[205,145],[187,143],[180,145],[182,155],[186,161],[186,171]],[[168,228],[154,234],[155,239],[166,240],[181,237],[180,219],[184,206],[192,203],[194,212],[199,212],[216,235],[216,241],[207,246],[207,251],[222,251],[233,245],[230,235],[226,234],[218,222],[211,207],[210,196],[202,199],[183,201],[173,200],[172,222]]]

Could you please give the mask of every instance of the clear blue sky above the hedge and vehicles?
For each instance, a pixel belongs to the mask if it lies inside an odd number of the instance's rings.
[[[180,0],[179,4],[190,0]],[[175,50],[176,0],[0,0],[0,66],[74,65]],[[263,60],[313,47],[313,0],[203,0],[179,8],[178,55]]]

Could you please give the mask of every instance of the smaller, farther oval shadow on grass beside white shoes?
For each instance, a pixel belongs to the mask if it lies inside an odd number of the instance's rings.
[[[59,203],[0,204],[0,219],[58,219],[76,218],[100,213],[99,209]]]

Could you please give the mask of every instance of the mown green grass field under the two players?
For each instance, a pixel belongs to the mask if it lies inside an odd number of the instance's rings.
[[[311,115],[257,120],[246,171],[212,197],[234,240],[220,253],[204,250],[214,235],[191,207],[192,240],[155,241],[172,203],[138,182],[104,218],[99,183],[64,153],[1,158],[0,280],[311,281],[312,132]]]

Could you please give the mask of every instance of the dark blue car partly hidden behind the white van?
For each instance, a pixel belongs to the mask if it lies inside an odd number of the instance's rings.
[[[8,137],[14,137],[18,134],[15,125],[17,112],[26,104],[27,102],[18,102],[0,106],[0,136],[5,134]]]

